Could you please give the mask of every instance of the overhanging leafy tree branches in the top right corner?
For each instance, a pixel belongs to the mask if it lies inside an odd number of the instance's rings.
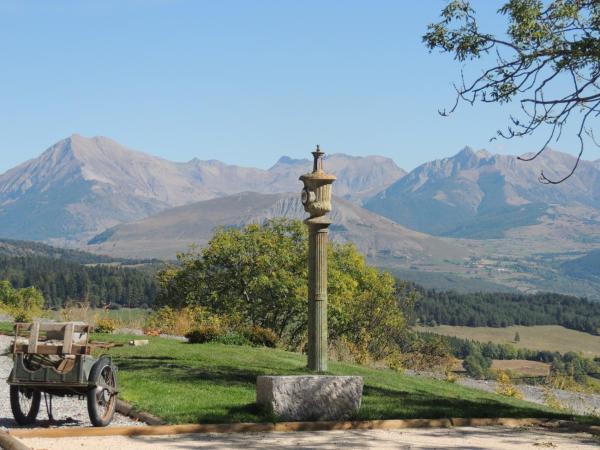
[[[452,0],[423,36],[430,50],[451,53],[459,61],[485,60],[485,69],[456,85],[456,102],[506,103],[517,100],[522,114],[511,116],[498,131],[503,138],[523,137],[547,130],[547,139],[532,156],[558,140],[571,118],[578,120],[579,156],[570,173],[557,179],[540,174],[540,181],[557,184],[577,168],[584,137],[591,141],[590,119],[600,112],[600,3],[596,0],[509,0],[498,13],[507,19],[505,35],[480,30],[470,2]]]

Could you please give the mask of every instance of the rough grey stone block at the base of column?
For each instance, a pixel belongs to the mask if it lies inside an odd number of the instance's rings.
[[[280,420],[347,420],[362,401],[362,377],[260,376],[256,403]]]

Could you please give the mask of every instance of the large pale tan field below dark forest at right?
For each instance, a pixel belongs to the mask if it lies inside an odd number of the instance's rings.
[[[588,357],[600,356],[600,336],[569,330],[558,325],[506,328],[439,325],[437,327],[415,327],[415,329],[480,342],[492,341],[499,344],[513,344],[516,347],[532,350],[550,350],[561,353],[573,351],[581,352]],[[513,342],[516,332],[519,332],[521,337],[518,343]]]

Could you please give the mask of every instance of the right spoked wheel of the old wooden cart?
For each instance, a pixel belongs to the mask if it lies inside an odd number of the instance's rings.
[[[117,389],[117,375],[110,358],[102,357],[96,361],[89,381],[95,385],[87,393],[90,421],[95,427],[105,427],[112,421],[117,406],[117,394],[111,394],[105,387]]]

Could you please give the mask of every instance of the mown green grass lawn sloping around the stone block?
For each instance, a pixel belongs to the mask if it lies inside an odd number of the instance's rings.
[[[128,339],[118,335],[96,338]],[[149,339],[148,346],[117,347],[109,353],[119,366],[121,397],[169,423],[268,421],[255,406],[256,377],[306,373],[305,356],[296,353]],[[364,377],[358,419],[566,418],[543,406],[391,370],[331,363],[330,372]]]

